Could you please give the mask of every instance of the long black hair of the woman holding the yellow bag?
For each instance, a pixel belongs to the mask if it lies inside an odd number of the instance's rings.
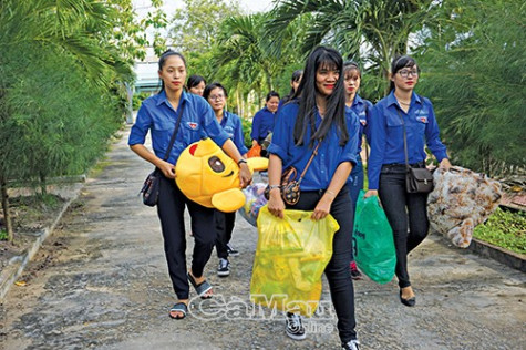
[[[328,68],[340,72],[333,92],[327,97],[327,107],[323,120],[316,130],[316,96],[319,94],[316,86],[316,74],[320,68]],[[303,76],[295,92],[292,100],[298,99],[299,111],[295,124],[296,145],[302,145],[306,140],[307,127],[310,126],[311,137],[308,141],[312,147],[316,140],[323,140],[336,123],[340,136],[340,146],[349,141],[345,123],[345,91],[343,89],[343,59],[332,48],[318,47],[310,53],[303,69]]]

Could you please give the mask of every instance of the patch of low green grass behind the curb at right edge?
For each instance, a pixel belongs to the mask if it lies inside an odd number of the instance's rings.
[[[495,246],[526,254],[526,213],[513,213],[498,208],[473,236]]]

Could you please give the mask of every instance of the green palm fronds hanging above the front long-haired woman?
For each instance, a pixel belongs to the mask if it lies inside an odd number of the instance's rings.
[[[384,83],[389,64],[396,54],[408,50],[409,34],[420,29],[431,0],[282,0],[277,1],[267,23],[267,32],[280,40],[280,33],[298,18],[312,16],[302,45],[310,52],[328,43],[349,59],[375,72]],[[379,86],[380,87],[380,86]]]

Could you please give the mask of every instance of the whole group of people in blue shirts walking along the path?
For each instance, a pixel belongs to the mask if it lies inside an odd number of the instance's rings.
[[[158,70],[162,90],[143,102],[128,140],[135,153],[164,174],[157,213],[169,277],[178,299],[169,310],[169,316],[175,319],[183,319],[187,313],[189,284],[199,297],[213,297],[212,286],[204,277],[204,268],[214,246],[220,258],[218,274],[228,275],[227,244],[235,219],[234,214],[219,213],[189,200],[177,188],[174,182],[177,157],[190,143],[207,136],[238,164],[241,187],[251,181],[245,161],[247,148],[243,144],[240,120],[225,110],[226,89],[219,83],[206,85],[204,79],[192,76],[187,82],[187,92],[184,87],[186,72],[183,55],[172,50],[163,53]],[[341,54],[331,48],[316,48],[303,70],[295,74],[291,92],[285,101],[279,103],[279,95],[269,94],[265,107],[272,114],[272,140],[267,150],[270,189],[268,209],[277,217],[283,217],[285,209],[310,210],[314,220],[330,214],[338,222],[340,229],[334,234],[333,254],[326,276],[338,317],[341,346],[343,349],[357,350],[359,341],[351,275],[358,274],[354,277],[359,277],[359,271],[355,266],[353,268],[351,260],[353,213],[364,177],[360,157],[362,135],[365,134],[371,146],[369,191],[365,196],[380,197],[393,228],[399,298],[405,306],[414,306],[416,300],[408,274],[406,257],[425,238],[429,222],[425,214],[426,195],[405,191],[403,135],[406,135],[411,166],[425,166],[425,145],[436,156],[441,167],[448,168],[451,164],[439,136],[431,102],[413,91],[420,68],[412,58],[403,55],[393,60],[392,90],[374,106],[358,95],[361,81],[358,64],[344,63]],[[203,97],[199,96],[202,92]],[[270,115],[264,117],[270,119]],[[182,127],[167,161],[163,161],[178,119]],[[259,130],[265,128],[259,127],[258,133],[252,130],[252,143],[261,142],[262,133]],[[148,131],[154,153],[144,146]],[[316,147],[318,152],[301,183],[299,202],[286,204],[279,186],[283,169],[295,166],[301,173]],[[195,240],[188,271],[183,216],[185,206],[190,214]],[[306,337],[301,317],[293,310],[286,313],[286,333],[297,340]]]

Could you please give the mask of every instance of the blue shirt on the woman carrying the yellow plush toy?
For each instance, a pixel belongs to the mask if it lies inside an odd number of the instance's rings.
[[[181,111],[183,103],[185,107],[181,119],[181,126],[167,159],[171,164],[176,164],[179,154],[189,144],[200,138],[210,137],[219,146],[223,146],[228,140],[228,134],[217,122],[214,111],[205,99],[183,92],[177,110]],[[144,100],[138,110],[135,124],[132,126],[127,144],[144,144],[146,134],[149,131],[154,153],[157,157],[164,159],[177,117],[178,114],[169,104],[164,91]]]

